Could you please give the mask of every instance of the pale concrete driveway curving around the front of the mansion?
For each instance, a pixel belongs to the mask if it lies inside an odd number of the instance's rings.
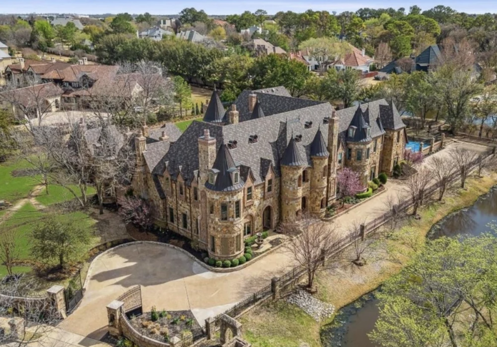
[[[488,147],[452,143],[433,156],[448,157],[459,146],[482,152]],[[367,222],[385,212],[391,196],[407,194],[399,181],[387,183],[387,192],[334,219],[334,232],[345,235],[357,222]],[[256,261],[237,272],[219,274],[207,271],[183,253],[156,244],[133,244],[110,251],[93,264],[80,306],[61,328],[83,336],[100,339],[107,331],[105,306],[126,288],[142,285],[143,308],[152,305],[162,310],[190,309],[203,325],[205,318],[218,314],[249,294],[266,286],[274,276],[294,266],[283,249]]]

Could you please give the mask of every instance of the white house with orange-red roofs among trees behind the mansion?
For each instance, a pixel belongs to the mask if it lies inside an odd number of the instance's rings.
[[[299,59],[304,59],[311,70],[319,70],[320,67],[325,71],[334,68],[336,70],[342,69],[356,69],[361,71],[362,74],[369,72],[369,67],[373,64],[374,59],[367,56],[365,50],[359,50],[358,48],[349,44],[350,51],[346,53],[343,57],[339,59],[331,59],[330,57],[325,57],[322,65],[317,57],[314,57],[309,50],[301,50],[296,54],[292,55],[292,59],[299,57]]]

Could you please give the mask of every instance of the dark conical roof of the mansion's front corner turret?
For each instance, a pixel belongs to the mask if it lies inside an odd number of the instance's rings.
[[[239,190],[244,187],[245,183],[239,176],[238,183],[234,183],[232,179],[232,172],[237,170],[237,165],[230,154],[230,150],[226,144],[221,144],[216,160],[214,161],[213,169],[217,170],[216,182],[214,185],[209,182],[205,183],[205,187],[211,190],[226,192]]]

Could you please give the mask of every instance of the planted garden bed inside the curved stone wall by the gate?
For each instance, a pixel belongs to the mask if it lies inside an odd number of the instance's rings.
[[[173,336],[201,338],[203,331],[193,313],[183,311],[145,312],[138,317],[131,317],[130,323],[138,332],[151,339],[168,342]]]

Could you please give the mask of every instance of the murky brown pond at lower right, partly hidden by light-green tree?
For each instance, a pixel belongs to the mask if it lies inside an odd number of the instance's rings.
[[[497,220],[497,187],[478,199],[469,208],[450,214],[433,225],[430,239],[441,236],[474,235],[489,232],[489,223]],[[378,319],[378,299],[369,293],[340,309],[333,323],[324,327],[321,340],[324,347],[378,347],[367,334]]]

